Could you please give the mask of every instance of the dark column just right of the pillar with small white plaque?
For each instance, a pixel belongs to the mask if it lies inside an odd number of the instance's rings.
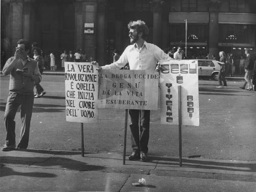
[[[97,5],[97,60],[99,65],[106,65],[106,6],[107,0],[98,0]]]

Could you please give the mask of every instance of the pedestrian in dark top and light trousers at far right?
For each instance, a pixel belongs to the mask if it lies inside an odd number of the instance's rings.
[[[247,85],[247,90],[253,90],[253,84],[251,82],[252,79],[252,73],[253,73],[253,65],[254,65],[254,60],[253,56],[250,54],[250,50],[245,50],[246,54],[246,60],[245,60],[245,65],[244,65],[244,85],[239,87],[241,89],[245,89],[245,86]]]

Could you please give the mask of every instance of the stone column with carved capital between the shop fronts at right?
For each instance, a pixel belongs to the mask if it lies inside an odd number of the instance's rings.
[[[221,0],[208,0],[209,6],[209,55],[218,58],[218,10]]]

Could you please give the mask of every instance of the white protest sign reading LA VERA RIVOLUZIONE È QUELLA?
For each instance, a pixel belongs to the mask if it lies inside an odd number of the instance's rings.
[[[65,62],[66,120],[98,122],[98,71],[86,62]]]

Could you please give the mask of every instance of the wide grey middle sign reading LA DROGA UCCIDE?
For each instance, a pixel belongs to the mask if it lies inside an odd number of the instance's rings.
[[[151,70],[102,70],[98,107],[157,110],[158,81]]]

